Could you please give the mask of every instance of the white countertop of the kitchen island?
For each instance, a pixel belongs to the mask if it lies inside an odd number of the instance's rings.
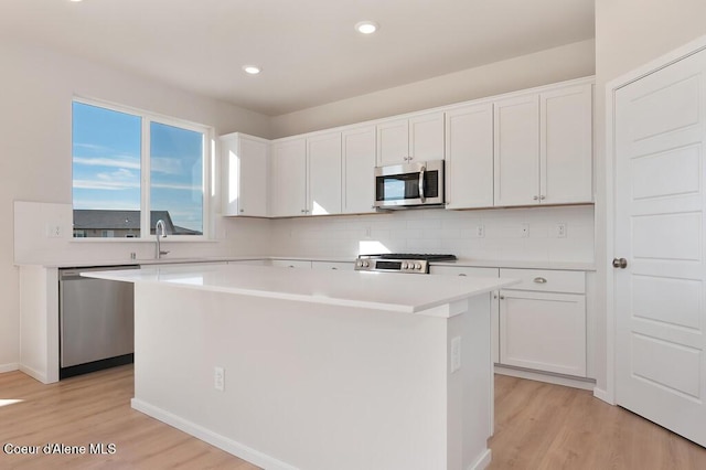
[[[82,275],[98,279],[162,284],[271,299],[406,313],[420,313],[517,282],[515,279],[242,265],[156,266],[139,270],[89,271]]]

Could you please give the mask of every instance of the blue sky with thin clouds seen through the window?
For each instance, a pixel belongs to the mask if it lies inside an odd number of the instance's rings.
[[[203,231],[203,135],[150,122],[151,210]],[[141,118],[74,102],[74,209],[140,209]]]

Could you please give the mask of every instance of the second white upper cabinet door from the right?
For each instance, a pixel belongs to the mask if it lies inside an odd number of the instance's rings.
[[[495,103],[494,205],[539,202],[539,97]]]

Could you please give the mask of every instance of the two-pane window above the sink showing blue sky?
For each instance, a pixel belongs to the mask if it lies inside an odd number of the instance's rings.
[[[74,237],[203,236],[208,129],[73,102]]]

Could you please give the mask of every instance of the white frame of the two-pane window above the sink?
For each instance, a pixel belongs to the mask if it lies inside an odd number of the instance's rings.
[[[151,142],[151,133],[150,133],[150,125],[152,122],[172,126],[184,130],[191,130],[203,135],[202,142],[202,158],[203,158],[203,171],[202,171],[202,197],[203,197],[203,210],[202,210],[202,234],[201,235],[173,235],[170,234],[169,237],[172,242],[203,242],[212,239],[212,224],[213,217],[211,212],[211,195],[213,193],[213,165],[214,165],[214,146],[212,145],[214,128],[211,126],[192,122],[184,119],[174,118],[171,116],[161,115],[158,113],[151,113],[139,108],[133,108],[130,106],[117,105],[115,103],[105,102],[101,99],[87,98],[83,96],[74,95],[72,97],[71,104],[72,107],[74,103],[79,103],[83,105],[95,106],[104,109],[108,109],[116,113],[129,114],[132,116],[137,116],[140,118],[140,131],[141,131],[141,142],[140,142],[140,236],[139,237],[76,237],[72,235],[73,241],[85,242],[140,242],[140,241],[149,241],[153,242],[154,235],[152,235],[150,227],[150,183],[151,183],[151,152],[150,152],[150,142]],[[72,122],[73,122],[73,111],[71,114]],[[73,129],[73,125],[72,125]],[[73,214],[73,184],[74,184],[74,139],[73,133],[71,138],[71,162],[72,162],[72,214]],[[73,223],[73,215],[72,215]]]

